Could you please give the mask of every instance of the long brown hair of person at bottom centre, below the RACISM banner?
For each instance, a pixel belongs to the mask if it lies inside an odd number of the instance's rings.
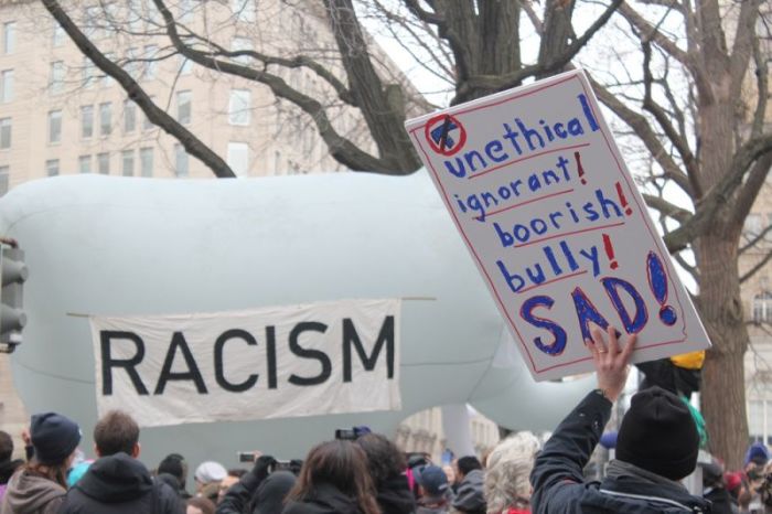
[[[303,502],[321,483],[333,485],[354,500],[362,514],[380,513],[367,471],[367,456],[353,442],[336,439],[313,447],[287,500]]]

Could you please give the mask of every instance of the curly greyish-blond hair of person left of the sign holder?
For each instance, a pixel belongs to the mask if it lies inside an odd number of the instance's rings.
[[[501,441],[487,458],[485,501],[487,513],[526,507],[530,499],[530,470],[539,441],[532,432],[518,432]]]

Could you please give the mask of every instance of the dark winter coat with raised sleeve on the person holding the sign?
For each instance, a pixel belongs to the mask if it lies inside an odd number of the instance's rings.
[[[612,404],[590,393],[558,426],[530,474],[534,514],[694,514],[710,512],[710,502],[678,485],[652,484],[635,476],[585,483],[590,460]]]

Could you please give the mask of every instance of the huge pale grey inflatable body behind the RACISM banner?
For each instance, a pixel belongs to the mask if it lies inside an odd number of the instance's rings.
[[[0,200],[26,254],[29,324],[12,357],[30,413],[96,421],[88,321],[68,313],[216,312],[346,298],[407,298],[403,410],[142,430],[153,465],[176,451],[235,464],[237,450],[303,457],[333,430],[394,433],[418,410],[468,401],[513,428],[549,430],[592,385],[535,383],[425,172],[248,180],[61,176]],[[410,298],[425,298],[409,300]]]

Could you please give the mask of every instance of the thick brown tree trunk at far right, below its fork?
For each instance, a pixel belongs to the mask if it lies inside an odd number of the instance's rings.
[[[737,242],[727,234],[707,235],[698,247],[698,308],[714,343],[703,371],[701,410],[711,453],[736,470],[748,445],[743,356],[749,339],[740,300]]]

